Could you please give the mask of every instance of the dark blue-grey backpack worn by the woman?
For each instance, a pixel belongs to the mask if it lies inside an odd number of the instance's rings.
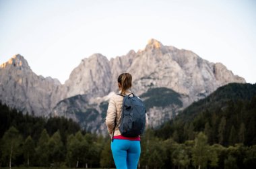
[[[137,137],[138,135],[143,135],[146,125],[146,108],[143,105],[143,102],[141,101],[141,99],[139,99],[139,97],[135,96],[133,93],[129,95],[120,96],[124,97],[122,106],[123,110],[121,114],[121,123],[119,126],[121,135],[125,137]],[[116,125],[117,122],[115,119],[115,127]]]

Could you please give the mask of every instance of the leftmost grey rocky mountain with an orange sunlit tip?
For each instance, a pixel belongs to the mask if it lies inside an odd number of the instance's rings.
[[[59,80],[34,74],[20,54],[0,66],[0,100],[9,107],[48,115],[59,101],[60,88]]]

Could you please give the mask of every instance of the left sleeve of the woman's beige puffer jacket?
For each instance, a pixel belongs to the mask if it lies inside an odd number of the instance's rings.
[[[115,126],[115,118],[117,116],[117,107],[115,101],[111,98],[108,104],[108,110],[106,111],[106,127],[108,133],[111,135]]]

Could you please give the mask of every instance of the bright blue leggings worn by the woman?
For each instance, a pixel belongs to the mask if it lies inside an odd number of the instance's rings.
[[[111,150],[117,169],[135,169],[139,162],[140,142],[114,139]]]

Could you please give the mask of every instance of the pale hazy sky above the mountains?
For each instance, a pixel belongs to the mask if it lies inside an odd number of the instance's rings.
[[[22,54],[62,83],[83,58],[137,52],[151,38],[256,82],[253,0],[0,0],[0,64]]]

